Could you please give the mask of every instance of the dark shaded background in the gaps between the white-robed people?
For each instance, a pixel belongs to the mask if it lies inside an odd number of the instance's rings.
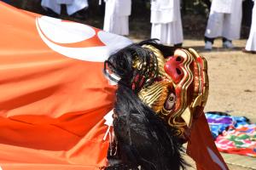
[[[210,0],[182,0],[181,2],[184,39],[203,39],[211,6]],[[65,5],[61,8],[61,15],[57,15],[54,12],[46,12],[41,7],[40,0],[9,0],[9,3],[17,8],[23,8],[34,13],[50,15],[64,20],[74,20],[100,29],[103,27],[105,3],[99,5],[98,0],[89,0],[89,8],[82,9],[72,16],[67,15]],[[129,37],[147,39],[150,37],[151,29],[150,0],[132,0],[131,4]],[[248,37],[252,20],[252,8],[253,2],[251,0],[243,2],[241,39],[247,39]]]

